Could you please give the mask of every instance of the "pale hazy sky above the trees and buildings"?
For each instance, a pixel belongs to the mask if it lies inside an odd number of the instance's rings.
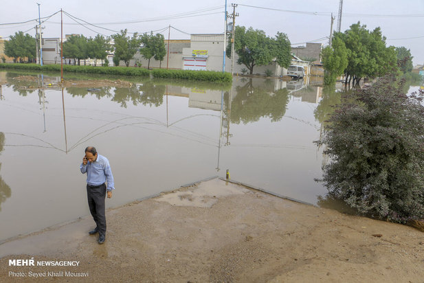
[[[7,38],[18,31],[34,35],[37,2],[2,2],[0,36]],[[51,16],[60,9],[64,11],[63,34],[109,36],[127,29],[138,33],[160,32],[168,38],[171,25],[170,39],[189,39],[190,34],[219,34],[225,30],[225,0],[38,0],[38,3],[41,17]],[[228,0],[228,12],[233,10],[232,3],[237,4],[239,14],[236,25],[263,30],[269,36],[283,32],[293,47],[306,42],[328,45],[331,12],[335,17],[333,29],[337,29],[339,0]],[[21,23],[25,21],[29,22]],[[60,12],[42,21],[45,21],[43,37],[60,37]],[[410,49],[414,65],[424,64],[424,0],[344,0],[340,30],[344,32],[358,21],[368,30],[381,27],[388,46],[404,46]]]

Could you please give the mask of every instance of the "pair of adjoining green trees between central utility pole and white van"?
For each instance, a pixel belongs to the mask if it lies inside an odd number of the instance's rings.
[[[284,68],[289,67],[291,62],[291,44],[287,34],[281,32],[272,38],[263,30],[237,25],[234,30],[234,51],[238,55],[237,63],[245,65],[251,75],[256,65],[268,65],[274,59]],[[231,40],[226,53],[231,58]]]

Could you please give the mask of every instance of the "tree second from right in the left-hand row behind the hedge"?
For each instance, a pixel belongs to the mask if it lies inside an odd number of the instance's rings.
[[[140,48],[140,39],[137,32],[130,38],[126,36],[126,29],[121,30],[120,34],[112,35],[115,45],[113,47],[115,54],[113,55],[113,63],[119,65],[119,60],[123,60],[126,67],[129,67],[130,60],[134,57],[137,50]],[[117,58],[117,59],[115,59]],[[118,62],[118,64],[116,64]]]

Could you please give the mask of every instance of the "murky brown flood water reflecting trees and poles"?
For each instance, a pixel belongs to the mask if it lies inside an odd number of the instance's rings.
[[[47,86],[59,78],[21,75],[0,72],[0,240],[89,214],[79,170],[87,146],[111,163],[107,207],[226,170],[309,203],[326,193],[314,181],[325,158],[313,141],[339,96],[322,98],[319,81],[234,78],[230,89],[144,80],[62,91]]]

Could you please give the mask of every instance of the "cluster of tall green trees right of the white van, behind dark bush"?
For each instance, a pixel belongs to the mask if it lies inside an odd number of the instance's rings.
[[[345,32],[336,32],[331,46],[322,50],[325,84],[333,84],[344,75],[346,84],[359,84],[362,78],[378,78],[390,72],[412,70],[412,56],[405,47],[386,46],[380,27],[370,32],[355,23]]]

